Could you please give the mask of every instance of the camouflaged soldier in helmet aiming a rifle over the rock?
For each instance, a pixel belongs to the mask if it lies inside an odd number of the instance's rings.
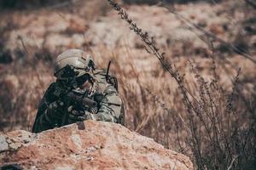
[[[33,133],[88,119],[124,125],[117,80],[108,71],[96,70],[90,54],[79,49],[60,54],[55,77],[38,107]]]

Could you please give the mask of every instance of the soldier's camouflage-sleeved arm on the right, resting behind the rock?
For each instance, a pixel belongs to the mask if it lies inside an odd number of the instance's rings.
[[[123,101],[116,89],[109,84],[103,94],[99,111],[96,114],[90,114],[90,119],[124,124]]]

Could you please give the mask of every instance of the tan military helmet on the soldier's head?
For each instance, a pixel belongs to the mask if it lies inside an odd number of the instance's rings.
[[[68,49],[60,54],[55,62],[55,77],[58,80],[82,77],[85,74],[93,77],[94,70],[95,64],[92,56],[80,49]]]

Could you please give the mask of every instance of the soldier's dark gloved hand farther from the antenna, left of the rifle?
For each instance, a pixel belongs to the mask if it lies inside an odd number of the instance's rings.
[[[46,116],[49,119],[61,119],[62,115],[64,114],[63,106],[64,103],[60,100],[49,104],[47,110],[45,111]]]

